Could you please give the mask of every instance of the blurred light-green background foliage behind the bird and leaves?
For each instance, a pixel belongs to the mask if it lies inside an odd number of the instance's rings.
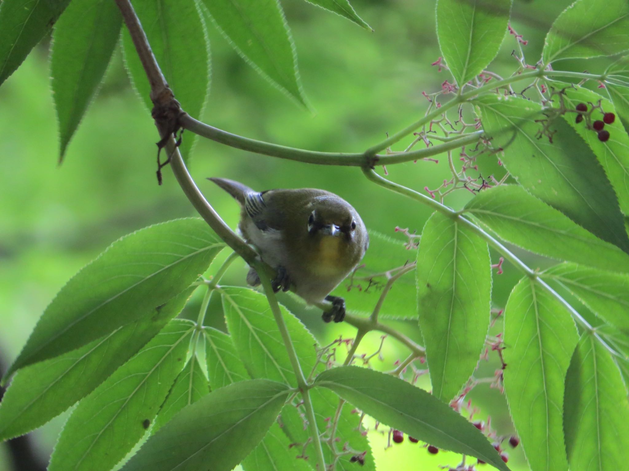
[[[568,0],[515,0],[512,24],[529,41],[528,62],[540,57],[545,32]],[[212,50],[211,91],[203,119],[213,126],[250,138],[320,151],[362,151],[423,116],[421,92],[434,92],[446,79],[430,63],[440,57],[435,33],[435,0],[354,0],[369,33],[299,0],[282,2],[298,51],[299,72],[315,113],[296,106],[261,79],[220,34],[209,26]],[[63,165],[57,164],[57,121],[50,94],[49,39],[38,46],[19,70],[0,87],[0,355],[14,359],[38,317],[55,293],[84,264],[111,242],[146,225],[194,215],[191,205],[168,169],[164,185],[155,180],[157,133],[150,114],[136,97],[123,68],[120,50],[97,99],[70,143]],[[494,72],[509,75],[517,66],[511,57],[516,43],[506,36],[494,61]],[[567,70],[583,70],[564,62]],[[177,90],[174,90],[175,95]],[[444,97],[445,99],[445,97]],[[184,134],[190,138],[191,134]],[[404,143],[408,144],[407,141]],[[404,144],[403,143],[403,144]],[[403,149],[400,144],[396,149]],[[372,230],[395,237],[394,227],[421,232],[430,211],[370,184],[357,168],[313,166],[277,160],[199,139],[189,162],[192,176],[222,217],[235,227],[238,209],[226,193],[204,180],[234,178],[264,190],[276,187],[319,187],[338,193],[362,215]],[[439,164],[406,163],[388,168],[389,178],[421,190],[435,188],[449,175]],[[449,177],[448,177],[449,178]],[[458,208],[469,198],[456,192],[446,200]],[[399,239],[404,242],[403,238]],[[224,256],[225,254],[223,254]],[[492,254],[494,263],[498,256]],[[537,260],[528,258],[535,268]],[[235,263],[226,283],[243,284],[245,266]],[[493,299],[503,307],[518,279],[510,266],[494,277]],[[320,313],[282,298],[308,325],[321,344],[338,335],[352,337],[343,325],[324,325]],[[189,312],[198,310],[195,296]],[[220,306],[213,305],[210,322],[222,325]],[[413,322],[399,328],[421,342]],[[496,332],[501,329],[496,325]],[[377,349],[379,334],[360,345],[359,354]],[[392,369],[406,352],[387,340],[377,369]],[[497,359],[481,364],[479,377],[492,376]],[[430,389],[425,377],[421,383]],[[477,418],[491,423],[498,435],[513,426],[504,397],[487,384],[469,397],[480,409]],[[36,448],[47,460],[65,416],[33,433]],[[386,437],[369,434],[377,466],[387,469],[437,470],[456,465],[452,453],[428,455],[421,445],[405,440],[384,450]],[[508,448],[508,447],[507,447]],[[513,470],[525,469],[520,448],[508,450]],[[0,471],[11,469],[6,445],[0,445]]]

